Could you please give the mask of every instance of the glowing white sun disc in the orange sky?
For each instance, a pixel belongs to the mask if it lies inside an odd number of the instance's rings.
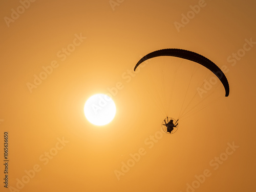
[[[94,125],[109,124],[115,117],[116,105],[106,94],[92,95],[84,105],[84,115]]]

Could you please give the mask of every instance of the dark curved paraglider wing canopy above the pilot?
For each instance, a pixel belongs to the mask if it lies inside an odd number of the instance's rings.
[[[204,57],[200,54],[197,54],[195,52],[191,52],[191,51],[187,51],[187,50],[181,50],[181,49],[158,50],[158,51],[149,53],[149,54],[145,55],[144,57],[142,57],[138,61],[136,66],[134,67],[134,71],[136,70],[136,68],[143,61],[146,61],[147,59],[151,59],[151,58],[154,58],[154,57],[159,57],[159,56],[180,57],[180,58],[183,58],[183,59],[194,61],[196,63],[199,63],[199,64],[205,66],[206,68],[208,68],[212,73],[214,73],[219,78],[219,80],[223,84],[223,86],[225,88],[225,91],[226,91],[225,97],[228,97],[228,95],[229,95],[229,85],[228,85],[227,78],[224,75],[224,73],[222,72],[222,70],[214,62],[210,61],[206,57]]]

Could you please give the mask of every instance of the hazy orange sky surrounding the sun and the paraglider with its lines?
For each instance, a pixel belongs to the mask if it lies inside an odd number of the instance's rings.
[[[10,160],[1,191],[254,191],[255,8],[255,1],[1,1],[0,143],[8,131]],[[166,48],[226,65],[230,85],[229,97],[220,86],[223,97],[173,135],[160,132],[165,116],[144,89],[146,70],[130,75],[141,56]],[[114,120],[93,126],[84,103],[116,84]]]

